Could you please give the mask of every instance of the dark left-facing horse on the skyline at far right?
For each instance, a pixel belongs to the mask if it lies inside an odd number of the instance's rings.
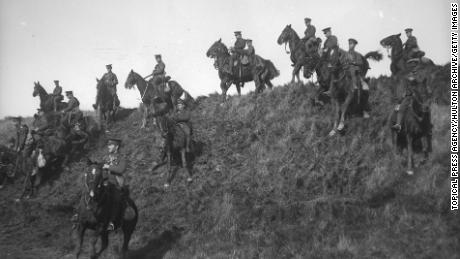
[[[391,54],[389,57],[391,58],[390,70],[393,76],[401,74],[404,75],[410,72],[407,67],[408,58],[404,53],[401,33],[390,35],[382,39],[380,41],[380,45],[382,45],[387,50],[391,48]],[[418,52],[417,58],[420,59],[421,63],[429,67],[434,66],[433,61],[424,57],[424,54],[425,53],[422,51]]]

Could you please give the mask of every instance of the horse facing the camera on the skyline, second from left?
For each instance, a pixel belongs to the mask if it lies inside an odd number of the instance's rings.
[[[115,98],[110,92],[107,84],[103,80],[96,78],[97,82],[97,103],[98,106],[95,107],[97,110],[97,116],[99,122],[105,121],[107,124],[114,122],[115,114],[117,112],[117,104],[115,103]]]

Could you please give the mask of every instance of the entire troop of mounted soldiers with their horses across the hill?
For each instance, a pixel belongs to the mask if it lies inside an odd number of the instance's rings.
[[[315,101],[321,102],[323,96],[332,99],[336,107],[337,118],[329,134],[333,136],[344,129],[347,109],[353,101],[357,100],[360,103],[364,118],[370,117],[369,87],[365,78],[370,68],[367,59],[378,61],[382,55],[376,51],[362,55],[356,51],[358,41],[354,38],[348,39],[348,50],[342,50],[330,27],[322,30],[326,39],[321,47],[322,40],[316,37],[316,28],[312,25],[311,18],[305,18],[304,21],[306,29],[303,38],[298,37],[291,25],[287,25],[278,38],[278,44],[289,44],[288,53],[294,67],[293,82],[296,77],[300,81],[299,72],[302,67],[306,78],[310,78],[316,72],[319,90]],[[401,82],[406,89],[392,114],[391,128],[395,134],[394,139],[407,137],[407,143],[412,143],[416,138],[425,137],[422,141],[430,148],[430,110],[429,105],[424,101],[429,93],[420,90],[427,89],[426,80],[422,80],[423,82],[419,80],[420,68],[427,62],[423,59],[424,53],[419,50],[417,39],[412,35],[412,31],[410,28],[406,29],[407,41],[404,44],[399,43],[400,34],[381,41],[382,46],[392,49],[391,70],[393,75],[401,75],[403,78]],[[240,89],[245,82],[254,81],[256,92],[259,93],[265,86],[271,88],[270,80],[279,75],[279,71],[270,60],[256,55],[251,39],[244,39],[241,31],[236,31],[235,37],[235,43],[230,50],[221,40],[218,40],[206,53],[208,57],[215,59],[214,66],[221,79],[220,86],[224,100],[232,84],[240,94]],[[187,155],[193,152],[193,127],[190,121],[190,101],[193,99],[176,81],[166,75],[166,65],[161,55],[155,55],[155,59],[157,64],[153,72],[146,77],[131,70],[125,87],[131,89],[136,85],[139,90],[144,115],[142,127],[145,127],[147,120],[153,117],[161,132],[163,144],[159,163],[168,159],[169,174],[164,184],[167,188],[173,176],[171,165],[174,153],[180,154],[182,166],[189,174],[187,181],[192,181]],[[107,72],[101,79],[97,79],[97,95],[93,108],[106,121],[113,121],[120,106],[117,96],[119,82],[112,72],[112,65],[106,65],[106,69]],[[81,153],[91,137],[91,127],[94,127],[90,117],[83,116],[79,109],[80,103],[73,92],[65,92],[68,102],[63,103],[62,86],[59,85],[58,80],[54,83],[52,94],[47,94],[39,82],[35,83],[33,95],[40,96],[41,103],[40,109],[34,115],[33,129],[29,130],[21,117],[12,118],[16,137],[8,148],[10,153],[15,153],[16,156],[12,159],[14,168],[9,170],[14,173],[10,173],[9,176],[14,177],[17,170],[26,172],[29,167],[33,168],[31,173],[26,173],[23,195],[26,193],[26,185],[33,194],[34,187],[40,182],[40,179],[37,181],[40,171],[49,170],[54,160],[63,158],[61,164],[67,165],[73,154]],[[408,114],[412,114],[411,118],[415,119],[407,122]],[[424,128],[429,128],[428,133],[423,132]],[[120,152],[121,145],[121,139],[109,138],[108,153],[102,161],[95,162],[88,159],[91,171],[84,175],[86,192],[81,200],[82,209],[73,218],[78,225],[79,251],[87,228],[98,231],[102,237],[99,255],[107,247],[109,231],[117,228],[123,229],[125,237],[123,251],[127,249],[138,214],[134,202],[129,197],[129,188],[124,179],[127,160]],[[411,144],[407,145],[410,150],[408,172],[412,170],[411,146]],[[3,159],[6,157],[5,152],[8,151],[2,149],[1,152]],[[0,162],[3,166],[4,161]],[[105,209],[98,210],[101,207]]]

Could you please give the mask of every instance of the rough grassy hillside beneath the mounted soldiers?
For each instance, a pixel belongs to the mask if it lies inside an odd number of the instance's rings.
[[[393,85],[372,80],[372,117],[351,118],[345,134],[332,138],[332,108],[311,106],[311,85],[225,105],[218,95],[200,98],[193,121],[203,150],[194,182],[187,185],[179,170],[168,190],[166,167],[151,170],[160,136],[139,129],[137,111],[117,122],[112,135],[124,140],[140,210],[131,258],[455,258],[460,220],[449,211],[449,107],[433,106],[433,153],[408,176],[386,126]],[[103,143],[90,155],[102,156]],[[74,163],[22,203],[13,201],[19,184],[0,191],[1,258],[72,252],[69,219],[84,168]],[[165,232],[176,228],[180,233]],[[111,242],[103,258],[117,246]]]

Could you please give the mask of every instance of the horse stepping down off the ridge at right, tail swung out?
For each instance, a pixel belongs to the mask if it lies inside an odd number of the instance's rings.
[[[331,97],[335,107],[335,119],[334,127],[330,131],[329,136],[334,136],[337,131],[342,131],[345,127],[345,116],[347,115],[348,108],[355,99],[355,92],[357,92],[357,101],[359,103],[366,102],[368,96],[361,96],[361,88],[354,89],[351,81],[351,74],[347,69],[348,64],[348,53],[343,49],[337,50],[337,55],[331,60]],[[379,61],[382,55],[377,51],[371,51],[364,55],[364,64],[360,67],[360,75],[364,78],[369,70],[369,63],[367,59],[373,59]],[[363,83],[363,82],[361,82]],[[366,98],[366,100],[362,100]]]

